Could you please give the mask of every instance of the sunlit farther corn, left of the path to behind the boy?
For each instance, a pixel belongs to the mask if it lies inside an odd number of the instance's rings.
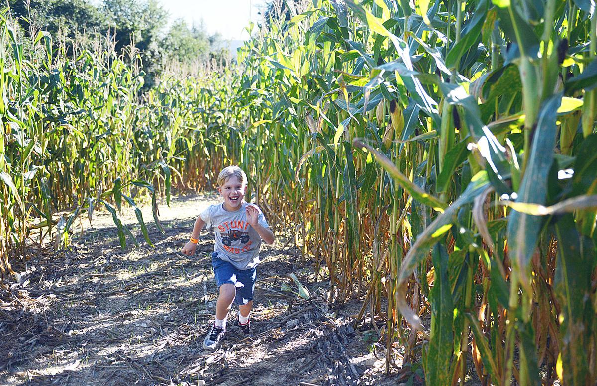
[[[94,52],[68,57],[48,33],[23,42],[15,26],[2,16],[3,272],[11,270],[11,260],[26,256],[27,240],[35,241],[30,235],[39,243],[49,237],[60,248],[68,244],[75,220],[91,221],[97,207],[112,213],[123,248],[127,236],[137,244],[118,217],[123,201],[135,208],[151,244],[134,197],[149,193],[161,228],[156,190],[169,201],[173,182],[207,186],[211,163],[223,163],[219,157],[227,154],[217,135],[225,102],[217,93],[230,87],[227,75],[206,74],[193,82],[168,78],[141,96],[143,71],[134,48],[119,57],[107,38]],[[195,157],[198,151],[214,154]],[[183,166],[192,172],[181,175]]]

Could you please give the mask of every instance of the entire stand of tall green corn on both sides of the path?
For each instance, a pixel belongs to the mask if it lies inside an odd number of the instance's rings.
[[[595,3],[273,9],[237,67],[144,95],[133,49],[67,56],[4,15],[2,270],[44,236],[67,245],[98,207],[125,248],[136,194],[160,226],[159,197],[239,164],[330,303],[363,300],[355,325],[370,316],[386,371],[464,384],[472,361],[484,385],[594,385]]]

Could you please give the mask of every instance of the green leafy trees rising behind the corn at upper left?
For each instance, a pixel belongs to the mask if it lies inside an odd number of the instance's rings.
[[[70,55],[77,48],[97,51],[97,41],[107,36],[117,54],[134,46],[144,71],[142,91],[155,86],[168,65],[231,61],[219,35],[210,36],[201,25],[189,27],[184,20],[168,23],[167,11],[155,0],[103,0],[97,7],[86,0],[8,0],[8,5],[25,35],[47,31]]]

